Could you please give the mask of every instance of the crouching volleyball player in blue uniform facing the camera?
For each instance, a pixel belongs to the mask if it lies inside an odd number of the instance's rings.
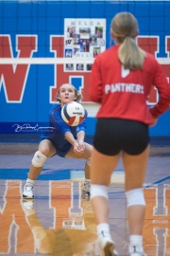
[[[85,164],[85,182],[82,197],[90,195],[90,165],[92,145],[84,142],[86,119],[77,126],[68,126],[61,119],[61,108],[70,101],[79,101],[81,95],[75,86],[64,83],[59,87],[57,103],[49,112],[50,132],[46,131],[39,144],[39,149],[32,158],[28,178],[23,192],[23,198],[34,198],[33,187],[35,180],[42,172],[42,167],[48,157],[59,155],[76,159],[87,159]],[[52,132],[51,132],[52,130]]]

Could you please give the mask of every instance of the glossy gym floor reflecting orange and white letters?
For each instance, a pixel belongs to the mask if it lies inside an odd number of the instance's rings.
[[[29,161],[25,158],[25,162],[20,162],[20,156],[15,155],[11,168],[11,159],[12,155],[0,155],[0,254],[100,256],[91,203],[80,196],[84,162],[70,159],[63,163],[62,158],[53,159],[55,164],[46,165],[36,182],[34,201],[23,202]],[[144,182],[147,256],[170,255],[169,166],[167,155],[149,157]],[[109,191],[111,235],[120,256],[128,255],[124,181],[120,161]]]

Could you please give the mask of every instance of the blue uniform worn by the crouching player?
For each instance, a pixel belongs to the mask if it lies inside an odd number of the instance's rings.
[[[86,118],[77,126],[69,126],[67,125],[63,119],[61,118],[61,105],[56,103],[53,105],[49,112],[49,127],[54,128],[50,131],[44,132],[41,137],[42,139],[49,139],[53,142],[57,150],[57,155],[64,157],[72,147],[72,144],[65,139],[65,133],[70,132],[76,138],[76,134],[79,131],[86,130],[86,119],[87,119],[87,111]]]

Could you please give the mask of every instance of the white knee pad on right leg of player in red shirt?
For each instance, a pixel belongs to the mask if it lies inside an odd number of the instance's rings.
[[[135,206],[135,205],[145,206],[143,188],[128,191],[126,192],[126,196],[127,196],[127,207]]]

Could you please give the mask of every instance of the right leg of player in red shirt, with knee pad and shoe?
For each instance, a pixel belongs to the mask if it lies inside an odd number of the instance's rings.
[[[123,154],[126,172],[127,219],[130,229],[130,255],[135,252],[139,255],[145,255],[142,236],[145,213],[143,184],[148,155],[149,146],[140,155]]]

